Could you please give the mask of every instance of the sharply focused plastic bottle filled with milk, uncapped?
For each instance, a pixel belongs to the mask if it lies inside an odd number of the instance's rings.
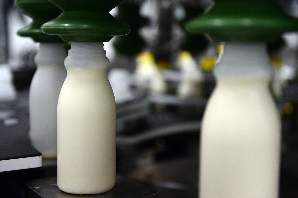
[[[116,104],[103,43],[72,42],[57,109],[57,184],[98,194],[116,181]]]

